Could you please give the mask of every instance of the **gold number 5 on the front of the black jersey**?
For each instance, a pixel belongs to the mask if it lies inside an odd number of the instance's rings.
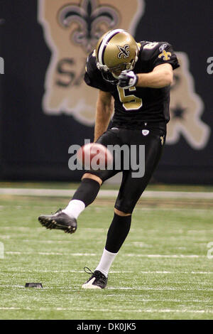
[[[135,95],[125,95],[124,88],[117,85],[117,90],[119,92],[119,99],[123,103],[123,107],[126,110],[137,110],[140,109],[143,105],[142,99],[136,97]],[[136,90],[136,87],[130,87],[129,91]]]

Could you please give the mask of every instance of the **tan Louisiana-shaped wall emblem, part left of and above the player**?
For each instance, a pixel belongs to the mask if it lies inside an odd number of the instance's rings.
[[[38,22],[51,52],[45,73],[43,112],[70,115],[77,122],[93,126],[97,90],[84,83],[87,55],[109,30],[122,28],[134,35],[145,8],[144,0],[37,2]]]

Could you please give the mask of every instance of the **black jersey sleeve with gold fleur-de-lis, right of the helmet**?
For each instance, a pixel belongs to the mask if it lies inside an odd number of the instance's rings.
[[[165,63],[171,64],[173,66],[173,70],[180,67],[172,45],[167,42],[159,42],[153,50],[151,66],[152,68],[155,68],[155,66]]]

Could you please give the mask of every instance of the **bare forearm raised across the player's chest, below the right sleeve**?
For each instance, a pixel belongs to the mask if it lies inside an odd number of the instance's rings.
[[[173,83],[173,67],[170,64],[160,64],[152,72],[139,73],[136,87],[163,88]]]

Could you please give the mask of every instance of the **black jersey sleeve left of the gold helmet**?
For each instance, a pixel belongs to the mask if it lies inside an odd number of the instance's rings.
[[[84,74],[84,81],[88,86],[109,92],[107,83],[104,82],[102,72],[97,68],[96,58],[93,52],[87,57],[86,72]]]

